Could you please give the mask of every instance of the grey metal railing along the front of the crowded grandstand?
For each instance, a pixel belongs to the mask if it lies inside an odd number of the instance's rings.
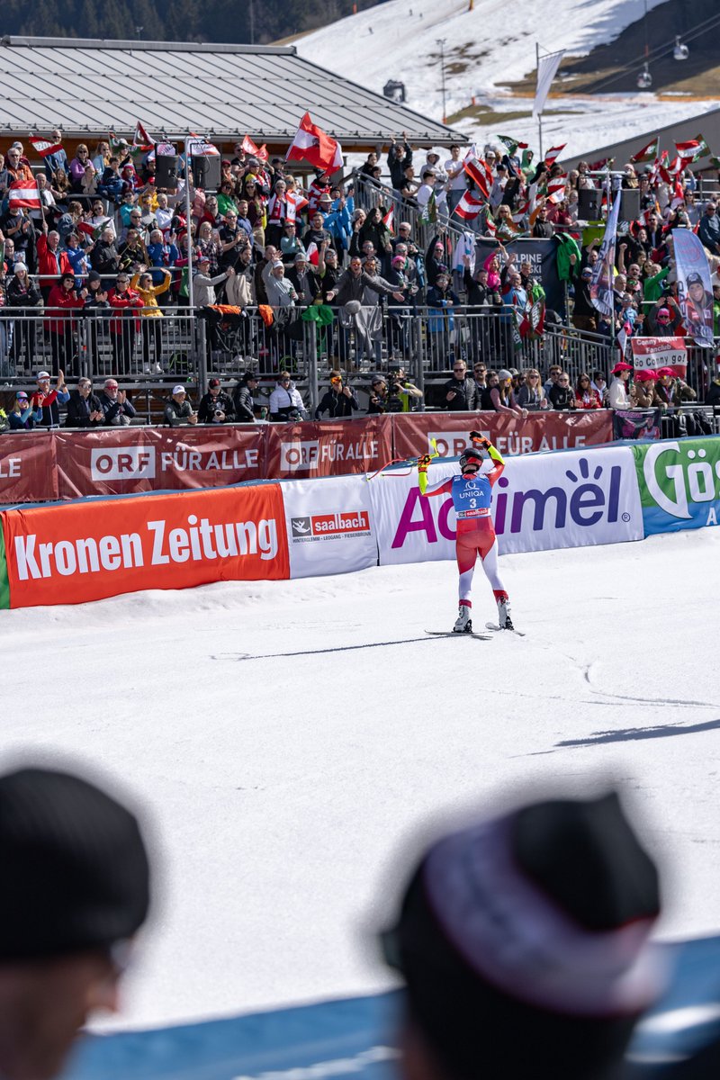
[[[92,309],[67,318],[0,312],[0,380],[12,390],[27,386],[41,368],[62,368],[67,378],[114,376],[138,386],[178,380],[203,391],[207,379],[223,381],[245,370],[272,379],[288,368],[305,403],[315,408],[327,373],[339,367],[351,379],[403,364],[420,390],[450,377],[452,364],[484,361],[489,368],[536,367],[543,378],[553,364],[571,383],[581,372],[609,377],[620,359],[615,342],[598,334],[547,326],[543,335],[518,338],[501,309],[460,306],[434,309],[403,305],[363,307],[350,313],[327,307],[229,311],[166,309],[162,318]],[[712,376],[715,352],[685,341],[688,381],[702,401]],[[720,350],[720,339],[716,341]],[[441,404],[433,392],[427,405]]]

